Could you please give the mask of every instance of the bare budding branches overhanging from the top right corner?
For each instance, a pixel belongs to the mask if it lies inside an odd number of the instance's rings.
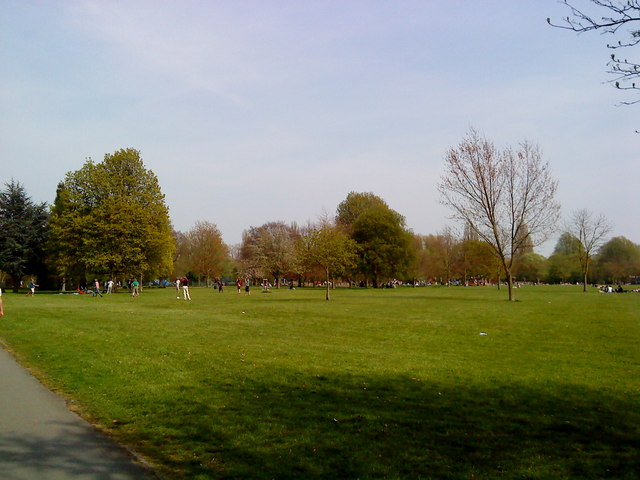
[[[571,15],[564,17],[561,23],[554,23],[550,18],[547,18],[549,25],[577,33],[597,30],[614,37],[623,35],[622,40],[607,44],[607,47],[613,50],[633,47],[640,43],[640,30],[621,28],[640,21],[640,2],[637,0],[590,0],[591,6],[594,7],[593,13],[585,8],[577,8],[576,2],[564,0],[562,3],[571,10]],[[635,80],[640,77],[640,64],[626,58],[620,58],[612,53],[607,67],[607,73],[613,75],[610,83],[615,85],[617,89],[640,90],[640,85],[635,83]],[[632,105],[638,102],[640,100],[621,103]]]

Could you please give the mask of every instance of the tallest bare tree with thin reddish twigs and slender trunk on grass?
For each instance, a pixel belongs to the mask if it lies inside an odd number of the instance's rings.
[[[470,129],[445,156],[438,185],[441,203],[491,246],[507,276],[509,300],[513,300],[516,255],[555,230],[560,211],[556,189],[549,164],[542,162],[537,147],[526,142],[517,151],[499,151]]]

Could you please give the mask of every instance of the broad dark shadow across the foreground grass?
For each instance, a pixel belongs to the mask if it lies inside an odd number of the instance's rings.
[[[185,478],[640,475],[637,394],[621,400],[559,385],[453,389],[322,376],[209,387],[225,391],[226,407],[193,404],[175,417],[174,432],[184,438],[173,440],[193,452],[171,465]],[[189,398],[184,389],[176,395]]]

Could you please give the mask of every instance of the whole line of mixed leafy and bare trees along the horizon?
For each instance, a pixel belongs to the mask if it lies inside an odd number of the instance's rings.
[[[172,228],[155,174],[140,152],[121,149],[87,159],[60,181],[52,205],[33,203],[16,181],[0,192],[0,284],[26,277],[63,290],[94,278],[142,281],[189,276],[210,285],[236,278],[276,287],[322,284],[380,287],[513,282],[628,282],[640,274],[640,246],[606,240],[604,217],[576,212],[549,258],[534,252],[554,228],[556,182],[537,147],[498,149],[471,129],[445,156],[442,202],[462,231],[418,235],[379,196],[351,192],[336,209],[305,225],[251,226],[228,246],[211,222]]]

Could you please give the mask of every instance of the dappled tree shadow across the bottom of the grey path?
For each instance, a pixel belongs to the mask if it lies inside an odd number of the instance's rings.
[[[134,463],[123,448],[98,432],[78,428],[76,423],[49,422],[37,430],[33,434],[0,433],[2,480],[157,479]]]

